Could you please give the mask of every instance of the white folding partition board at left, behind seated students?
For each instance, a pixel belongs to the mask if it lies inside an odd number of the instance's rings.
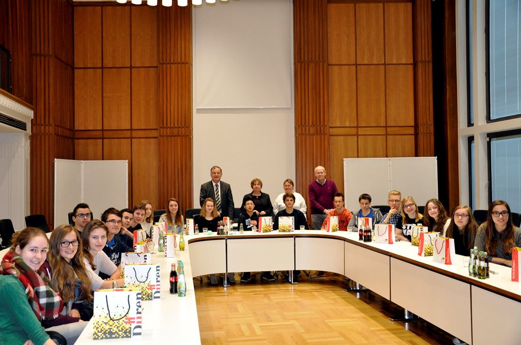
[[[128,161],[54,160],[54,225],[68,224],[79,203],[94,219],[109,208],[128,207]]]

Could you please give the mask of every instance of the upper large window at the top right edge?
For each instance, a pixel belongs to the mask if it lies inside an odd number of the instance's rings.
[[[520,21],[518,0],[487,2],[487,121],[521,116]]]

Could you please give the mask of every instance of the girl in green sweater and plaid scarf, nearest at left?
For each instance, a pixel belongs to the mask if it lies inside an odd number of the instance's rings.
[[[63,300],[42,265],[48,251],[45,233],[26,228],[13,235],[0,266],[0,339],[5,344],[54,345],[46,330],[73,344],[86,322],[63,315]],[[48,267],[48,264],[47,264]],[[50,269],[50,267],[49,267]],[[45,329],[44,329],[45,327]]]

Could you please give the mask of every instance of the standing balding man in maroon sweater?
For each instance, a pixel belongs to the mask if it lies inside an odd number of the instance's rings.
[[[311,204],[312,229],[319,230],[328,213],[334,210],[333,196],[338,193],[337,185],[331,180],[326,180],[326,168],[315,168],[315,181],[309,183],[307,188],[309,203]]]

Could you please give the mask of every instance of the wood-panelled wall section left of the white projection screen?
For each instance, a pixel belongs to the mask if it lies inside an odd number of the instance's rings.
[[[76,159],[128,160],[130,207],[187,208],[191,7],[78,4],[74,16]]]

